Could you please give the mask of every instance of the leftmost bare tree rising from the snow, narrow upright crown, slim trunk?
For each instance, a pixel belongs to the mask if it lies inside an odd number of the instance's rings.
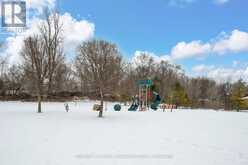
[[[24,40],[24,47],[21,52],[24,70],[36,86],[38,113],[41,113],[43,85],[48,74],[49,58],[45,51],[44,43],[39,36],[33,36]]]

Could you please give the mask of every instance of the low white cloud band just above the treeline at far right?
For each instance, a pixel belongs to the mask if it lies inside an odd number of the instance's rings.
[[[214,79],[219,83],[226,81],[236,82],[240,78],[248,82],[248,67],[243,68],[225,68],[207,65],[197,65],[192,68],[192,71],[196,73],[196,76],[206,76],[208,78]]]

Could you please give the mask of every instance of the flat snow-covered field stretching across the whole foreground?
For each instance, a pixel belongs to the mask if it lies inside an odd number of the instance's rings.
[[[247,165],[248,113],[0,102],[0,165]],[[124,109],[127,109],[125,107]],[[123,109],[122,109],[123,110]]]

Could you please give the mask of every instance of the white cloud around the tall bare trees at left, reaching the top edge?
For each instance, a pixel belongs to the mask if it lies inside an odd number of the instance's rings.
[[[38,26],[43,21],[41,14],[44,8],[53,9],[56,6],[56,0],[26,0],[27,11],[31,12],[31,17],[27,22],[28,29],[22,33],[10,33],[11,36],[5,39],[6,49],[0,52],[0,56],[7,56],[10,64],[17,63],[19,53],[22,48],[23,40],[38,33]],[[75,53],[76,46],[82,41],[88,40],[94,36],[95,26],[87,20],[77,20],[69,13],[61,15],[63,24],[64,50],[67,55]]]

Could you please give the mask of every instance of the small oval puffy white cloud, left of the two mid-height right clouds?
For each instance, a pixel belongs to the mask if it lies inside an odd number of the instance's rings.
[[[190,43],[179,42],[171,50],[172,59],[184,59],[190,57],[201,56],[209,53],[211,50],[210,44],[202,43],[201,41],[192,41]]]

